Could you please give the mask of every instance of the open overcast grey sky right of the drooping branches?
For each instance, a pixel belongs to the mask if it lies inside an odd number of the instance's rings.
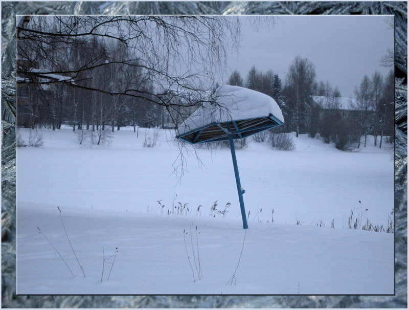
[[[380,65],[387,49],[394,49],[394,30],[386,16],[279,16],[274,25],[255,30],[241,17],[242,41],[228,65],[245,80],[253,65],[278,73],[283,86],[296,56],[315,65],[316,80],[338,86],[343,97],[354,97],[363,76],[378,70],[386,76],[392,68]],[[229,71],[229,70],[228,70]],[[227,79],[227,78],[226,78]]]

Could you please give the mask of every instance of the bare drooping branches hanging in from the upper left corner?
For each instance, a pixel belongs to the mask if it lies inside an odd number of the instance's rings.
[[[200,99],[188,105],[205,101],[206,91],[225,66],[228,42],[238,44],[239,22],[236,17],[219,16],[32,16],[17,29],[18,57],[28,60],[18,63],[18,73],[32,77],[29,83],[64,83],[110,96],[146,99],[150,95],[147,100],[152,103],[182,106],[163,98],[172,93],[172,97],[186,99],[186,93],[196,92]],[[91,50],[78,62],[70,61],[70,54],[89,48],[96,38],[102,40],[104,49]],[[118,58],[115,41],[134,58]],[[92,78],[96,69],[113,65],[123,77],[135,67],[142,79],[152,83],[154,92],[131,83],[116,89],[80,83]]]

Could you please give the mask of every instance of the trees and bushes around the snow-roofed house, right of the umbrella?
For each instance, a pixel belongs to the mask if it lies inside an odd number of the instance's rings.
[[[263,73],[255,66],[245,79],[235,70],[227,83],[250,88],[276,100],[285,124],[273,131],[294,131],[297,137],[300,134],[320,137],[325,143],[335,143],[339,149],[347,149],[352,142],[360,147],[362,139],[366,147],[368,135],[374,136],[375,146],[379,143],[379,147],[385,136],[389,141],[393,139],[393,71],[386,77],[378,71],[371,78],[365,75],[355,88],[356,99],[350,100],[342,98],[338,87],[328,81],[317,81],[315,65],[302,57],[296,57],[289,65],[284,83],[272,70]]]

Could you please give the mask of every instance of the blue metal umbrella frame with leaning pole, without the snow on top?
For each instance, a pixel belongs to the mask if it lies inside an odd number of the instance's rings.
[[[237,166],[234,140],[246,138],[248,136],[257,134],[258,132],[275,128],[282,124],[284,123],[281,120],[276,118],[274,115],[269,114],[266,117],[231,120],[226,122],[213,122],[176,136],[177,139],[185,141],[189,144],[229,140],[230,150],[232,152],[234,174],[236,176],[237,192],[239,195],[241,218],[243,220],[243,229],[248,228],[243,200],[243,194],[245,193],[245,190],[241,187],[240,183],[240,175]]]

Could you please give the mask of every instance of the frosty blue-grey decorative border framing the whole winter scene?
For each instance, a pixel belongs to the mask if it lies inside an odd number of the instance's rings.
[[[17,14],[391,14],[396,70],[396,296],[15,296],[15,16]],[[4,307],[406,307],[406,2],[4,2],[2,3],[2,303]]]

